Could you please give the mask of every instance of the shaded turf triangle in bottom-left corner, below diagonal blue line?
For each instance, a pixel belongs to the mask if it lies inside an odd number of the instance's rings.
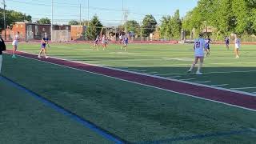
[[[110,143],[0,79],[0,143]]]

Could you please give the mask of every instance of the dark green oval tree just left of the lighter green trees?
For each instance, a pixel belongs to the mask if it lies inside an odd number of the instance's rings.
[[[142,36],[148,37],[151,33],[154,33],[157,24],[158,22],[152,14],[146,15],[142,22]]]

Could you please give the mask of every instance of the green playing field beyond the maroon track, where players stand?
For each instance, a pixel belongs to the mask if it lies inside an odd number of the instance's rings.
[[[238,90],[256,93],[254,47],[242,46],[241,58],[237,59],[234,58],[233,49],[226,50],[222,45],[211,46],[210,57],[206,58],[202,70],[204,75],[200,77],[186,74],[193,61],[192,45],[131,44],[127,51],[123,51],[118,45],[110,45],[109,50],[92,50],[88,44],[52,44],[49,54],[58,58],[155,74],[209,86],[217,85],[227,89],[244,87],[245,89]],[[40,46],[20,44],[18,49],[38,54]]]

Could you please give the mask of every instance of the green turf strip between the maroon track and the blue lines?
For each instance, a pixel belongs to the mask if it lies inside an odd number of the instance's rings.
[[[180,138],[178,143],[254,143],[256,139],[256,114],[249,110],[10,55],[4,55],[3,75],[129,142]],[[225,134],[248,129],[252,131]],[[213,136],[191,138],[198,134]]]

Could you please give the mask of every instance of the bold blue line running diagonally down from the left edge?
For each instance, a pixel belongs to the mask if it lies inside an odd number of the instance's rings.
[[[100,128],[99,126],[96,126],[94,123],[87,121],[84,118],[79,117],[77,114],[72,113],[70,110],[66,110],[65,108],[63,108],[62,106],[58,106],[58,104],[54,103],[54,102],[50,102],[50,100],[43,98],[42,96],[40,96],[39,94],[34,93],[31,90],[26,89],[26,87],[19,85],[18,83],[10,80],[9,78],[6,78],[4,76],[0,76],[0,79],[5,80],[6,82],[10,83],[11,86],[14,86],[16,88],[18,88],[18,90],[22,90],[25,91],[27,94],[30,94],[32,97],[38,99],[38,101],[43,102],[46,106],[50,106],[50,108],[58,111],[61,114],[66,115],[67,117],[73,119],[74,121],[82,124],[82,126],[85,126],[86,128],[89,128],[90,130],[93,130],[94,132],[96,132],[97,134],[102,135],[102,137],[121,144],[121,143],[126,143],[125,140],[122,140],[122,138],[118,138],[118,136],[115,136],[114,134],[110,134],[110,132],[107,132],[106,130],[103,130],[102,128]]]

